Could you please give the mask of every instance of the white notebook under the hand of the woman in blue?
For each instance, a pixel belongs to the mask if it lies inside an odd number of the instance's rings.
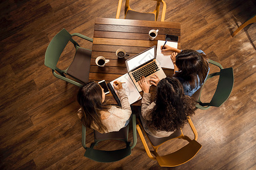
[[[161,45],[164,45],[164,42],[166,41],[158,40],[158,48],[156,49],[156,59],[160,63],[161,67],[167,69],[174,69],[174,63],[172,63],[170,52],[168,54],[164,54],[161,51]],[[167,41],[166,45],[177,48],[177,42]]]

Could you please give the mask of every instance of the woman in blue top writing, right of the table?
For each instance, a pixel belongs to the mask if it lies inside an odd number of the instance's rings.
[[[162,52],[172,53],[174,76],[183,85],[184,94],[192,96],[203,85],[210,70],[205,53],[202,50],[180,50],[168,45],[164,46]]]

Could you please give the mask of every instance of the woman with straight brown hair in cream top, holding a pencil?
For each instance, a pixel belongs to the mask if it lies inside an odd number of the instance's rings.
[[[129,124],[131,116],[129,100],[122,84],[115,84],[115,82],[113,86],[118,92],[122,108],[104,102],[105,93],[98,83],[89,82],[80,88],[77,94],[77,101],[81,106],[78,115],[85,127],[100,133],[108,133],[119,131]]]

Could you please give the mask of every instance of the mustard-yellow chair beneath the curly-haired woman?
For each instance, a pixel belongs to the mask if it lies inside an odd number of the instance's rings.
[[[200,143],[198,143],[196,141],[197,140],[197,131],[196,131],[195,126],[193,125],[190,117],[188,117],[188,124],[191,127],[193,134],[195,135],[195,138],[193,140],[191,140],[189,137],[183,135],[183,132],[181,129],[176,130],[169,137],[155,138],[155,137],[152,137],[150,134],[147,134],[146,131],[144,131],[140,120],[138,120],[138,122],[139,122],[139,124],[137,124],[137,126],[136,126],[137,131],[139,133],[139,137],[141,137],[141,141],[146,150],[147,156],[152,160],[156,160],[161,167],[176,167],[178,165],[184,164],[184,163],[188,162],[189,160],[191,160],[197,154],[197,152],[199,152],[199,150],[202,147],[200,145]],[[141,129],[143,130],[143,133],[146,134],[148,140],[150,141],[151,146],[154,148],[154,151],[152,151],[152,153],[155,156],[152,156],[151,151],[149,150],[149,148],[147,146],[147,142],[144,138],[144,135],[143,135]],[[172,152],[171,154],[159,156],[158,148],[161,145],[163,145],[163,143],[166,143],[175,138],[184,139],[184,140],[188,141],[189,143],[188,143],[188,145],[180,148],[179,150],[177,150],[175,152]]]

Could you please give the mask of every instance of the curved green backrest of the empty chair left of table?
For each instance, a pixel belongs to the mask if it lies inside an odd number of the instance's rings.
[[[63,52],[65,46],[68,44],[68,41],[71,39],[71,34],[68,33],[68,31],[64,28],[59,33],[57,33],[57,35],[53,37],[52,41],[47,47],[46,55],[44,58],[44,65],[51,68],[52,70],[55,70],[61,53]]]

